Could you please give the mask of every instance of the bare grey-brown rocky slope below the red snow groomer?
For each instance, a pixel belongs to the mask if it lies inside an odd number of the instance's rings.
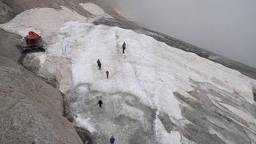
[[[19,38],[0,30],[0,143],[82,143],[62,94],[18,65]]]

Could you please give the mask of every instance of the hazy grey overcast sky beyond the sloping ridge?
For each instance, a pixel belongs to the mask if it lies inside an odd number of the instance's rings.
[[[134,21],[256,67],[256,0],[113,0]]]

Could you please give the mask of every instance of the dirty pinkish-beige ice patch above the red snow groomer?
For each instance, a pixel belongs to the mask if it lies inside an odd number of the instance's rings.
[[[19,34],[25,37],[30,30],[40,34],[43,41],[52,43],[56,40],[56,36],[65,22],[81,21],[86,22],[85,17],[77,12],[62,6],[62,10],[54,10],[53,8],[35,8],[26,10],[22,14],[18,14],[14,19],[0,27],[9,32]]]

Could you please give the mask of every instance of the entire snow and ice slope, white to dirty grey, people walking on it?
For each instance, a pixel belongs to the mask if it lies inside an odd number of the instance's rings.
[[[78,126],[95,143],[111,135],[116,143],[256,142],[254,79],[144,34],[95,26],[94,19],[106,16],[97,9],[92,18],[64,7],[26,10],[0,25],[22,36],[42,34],[46,53],[30,54],[40,60],[38,73],[57,78]],[[21,22],[34,14],[46,20]]]

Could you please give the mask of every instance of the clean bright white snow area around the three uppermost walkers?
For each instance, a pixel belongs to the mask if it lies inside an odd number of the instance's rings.
[[[94,26],[80,22],[68,22],[65,26],[67,26],[66,29],[62,29],[64,33],[68,33],[65,30],[74,32],[70,36],[70,39],[74,41],[70,42],[71,48],[68,50],[68,56],[75,63],[73,65],[74,72],[72,72],[74,86],[88,82],[91,84],[91,90],[107,94],[118,91],[134,94],[144,104],[151,106],[152,103],[157,110],[165,111],[166,114],[177,119],[182,119],[182,114],[179,109],[180,103],[174,98],[173,92],[186,93],[186,91],[193,90],[190,78],[198,82],[210,82],[214,86],[230,92],[242,90],[234,82],[241,80],[246,82],[246,79],[249,79],[237,71],[218,64],[214,66],[213,62],[207,62],[206,59],[201,59],[195,54],[187,53],[186,55],[186,52],[181,50],[172,50],[170,46],[168,48],[153,38],[136,34],[131,30]],[[73,36],[77,37],[72,38]],[[122,54],[121,46],[124,41],[127,43],[127,49],[125,54]],[[78,50],[74,50],[72,46],[76,46]],[[162,47],[166,49],[162,49]],[[170,58],[167,55],[170,55],[173,60],[169,61]],[[98,70],[96,66],[98,58],[102,61],[102,71]],[[190,64],[196,62],[198,63]],[[110,71],[110,79],[106,79],[105,70]],[[214,71],[210,72],[210,78],[206,74],[207,70]],[[224,78],[226,75],[231,78]],[[226,79],[225,83],[220,80],[222,78]],[[247,84],[250,85],[250,82]],[[250,94],[250,86],[243,86],[245,87],[242,87],[241,94],[246,92]],[[131,110],[129,115],[132,118],[138,118],[133,115],[136,110],[132,110],[132,108],[129,110]],[[162,127],[158,126],[156,125],[156,129]],[[164,128],[162,127],[162,129]],[[168,138],[176,138],[178,132],[163,133],[158,133],[160,139],[162,142],[167,142]]]

